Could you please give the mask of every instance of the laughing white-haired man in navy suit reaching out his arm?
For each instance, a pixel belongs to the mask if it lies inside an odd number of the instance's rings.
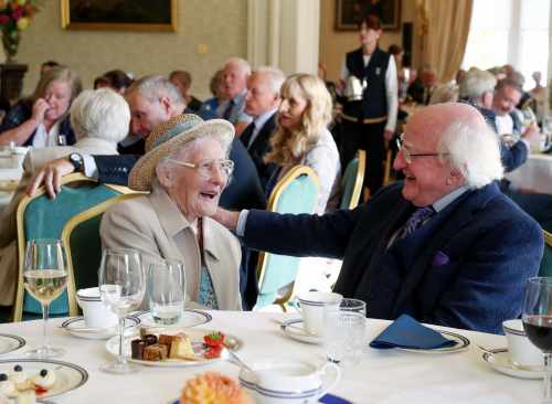
[[[466,104],[428,106],[407,123],[394,161],[405,176],[352,211],[322,216],[220,211],[253,248],[343,258],[335,290],[368,316],[486,332],[521,313],[542,257],[539,225],[505,196],[495,134]]]

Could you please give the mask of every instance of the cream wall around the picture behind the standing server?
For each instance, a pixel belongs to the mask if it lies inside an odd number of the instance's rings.
[[[333,29],[336,19],[336,0],[321,0],[320,4],[320,62],[326,65],[330,81],[339,78],[339,72],[343,63],[344,54],[359,47],[359,34],[357,31],[336,31]],[[401,24],[416,20],[416,2],[414,0],[402,0]],[[414,26],[415,30],[415,26]],[[413,66],[417,66],[417,35],[413,35]],[[380,38],[380,46],[386,50],[389,45],[396,43],[402,45],[401,31],[383,31]]]

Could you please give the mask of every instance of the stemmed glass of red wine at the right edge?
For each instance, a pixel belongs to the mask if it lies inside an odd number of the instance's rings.
[[[552,278],[530,278],[523,302],[523,328],[529,340],[544,355],[544,396],[552,403]]]

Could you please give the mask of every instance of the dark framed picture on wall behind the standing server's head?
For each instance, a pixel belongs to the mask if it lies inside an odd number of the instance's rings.
[[[401,28],[401,0],[336,0],[336,31],[358,31],[367,14],[380,17],[383,30]]]

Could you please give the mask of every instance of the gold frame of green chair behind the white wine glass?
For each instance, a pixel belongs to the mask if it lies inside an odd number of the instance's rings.
[[[97,182],[95,179],[83,176],[82,173],[72,173],[65,176],[61,180],[62,185],[66,185],[74,182]],[[135,193],[128,187],[115,185],[115,184],[105,184],[107,188],[113,189],[114,191],[120,192],[123,194],[126,193]],[[19,256],[19,274],[18,274],[18,285],[15,290],[15,302],[13,305],[13,321],[21,321],[23,319],[23,297],[24,297],[24,279],[23,279],[23,265],[24,265],[24,256],[25,256],[25,236],[23,230],[23,213],[25,212],[26,206],[31,203],[32,200],[42,196],[46,193],[46,189],[41,187],[33,196],[23,196],[18,205],[17,212],[17,226],[18,226],[18,256]],[[68,268],[67,268],[68,269]],[[67,270],[67,285],[72,283],[74,287],[73,273]],[[74,291],[74,290],[73,290]],[[76,306],[76,299],[74,296],[70,296],[70,289],[67,287],[67,298],[70,305],[70,316],[76,316],[78,312],[78,308]],[[72,305],[73,301],[73,305]]]

